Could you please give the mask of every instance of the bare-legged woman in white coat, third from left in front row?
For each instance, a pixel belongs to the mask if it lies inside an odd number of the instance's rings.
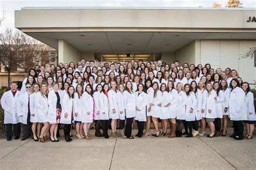
[[[38,141],[40,135],[41,124],[38,123],[38,114],[36,112],[36,94],[40,91],[40,85],[38,83],[33,84],[33,93],[30,95],[30,122],[32,123],[33,139]]]

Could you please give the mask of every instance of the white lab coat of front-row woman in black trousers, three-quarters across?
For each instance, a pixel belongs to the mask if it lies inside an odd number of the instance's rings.
[[[193,112],[190,112],[190,109],[193,109]],[[186,104],[186,121],[196,121],[196,112],[197,112],[197,97],[193,91],[187,96]]]

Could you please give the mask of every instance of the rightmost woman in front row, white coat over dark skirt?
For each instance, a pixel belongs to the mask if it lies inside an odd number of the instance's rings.
[[[253,138],[253,131],[254,131],[254,121],[256,121],[256,116],[255,116],[255,109],[254,109],[254,98],[253,98],[253,93],[250,91],[250,86],[249,83],[243,82],[242,83],[242,90],[245,91],[245,103],[247,107],[247,118],[248,120],[245,121],[246,125],[246,139],[252,139]]]

